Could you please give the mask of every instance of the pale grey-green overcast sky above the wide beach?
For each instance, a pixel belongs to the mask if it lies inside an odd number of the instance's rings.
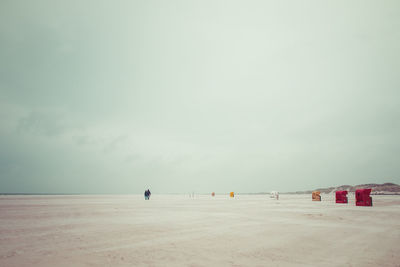
[[[400,2],[0,1],[0,192],[400,183]]]

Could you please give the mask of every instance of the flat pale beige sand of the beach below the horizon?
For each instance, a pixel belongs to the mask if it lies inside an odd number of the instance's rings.
[[[0,266],[400,266],[400,196],[0,196]]]

